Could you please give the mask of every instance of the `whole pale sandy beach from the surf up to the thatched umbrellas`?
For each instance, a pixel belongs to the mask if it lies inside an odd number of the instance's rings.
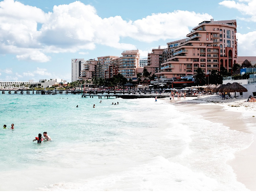
[[[169,101],[167,99],[164,100],[166,102]],[[237,103],[242,103],[244,100],[245,99],[224,100],[224,102],[215,100],[212,102],[211,99],[184,100],[181,98],[178,102],[177,100],[174,100],[168,103],[173,104],[181,112],[191,115],[199,115],[202,119],[221,123],[231,130],[253,135],[252,142],[248,148],[234,153],[235,157],[230,159],[227,164],[234,170],[238,182],[243,183],[247,189],[255,191],[256,173],[254,170],[256,166],[254,165],[254,162],[256,161],[256,142],[254,142],[254,138],[256,132],[253,129],[250,129],[249,126],[255,127],[256,118],[252,116],[256,116],[256,112],[251,110],[252,108],[244,106],[241,106],[238,109]],[[247,102],[244,103],[247,105]],[[239,121],[237,121],[237,119],[239,119]]]

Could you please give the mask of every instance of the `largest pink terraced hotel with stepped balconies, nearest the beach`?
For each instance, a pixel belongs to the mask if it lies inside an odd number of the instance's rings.
[[[237,63],[236,20],[203,21],[187,37],[167,43],[161,56],[164,62],[159,64],[160,71],[156,71],[159,78],[193,75],[197,68],[206,74],[213,69],[219,71],[221,66],[232,71]],[[150,56],[149,53],[149,60]],[[154,62],[148,63],[149,66],[154,67]]]

